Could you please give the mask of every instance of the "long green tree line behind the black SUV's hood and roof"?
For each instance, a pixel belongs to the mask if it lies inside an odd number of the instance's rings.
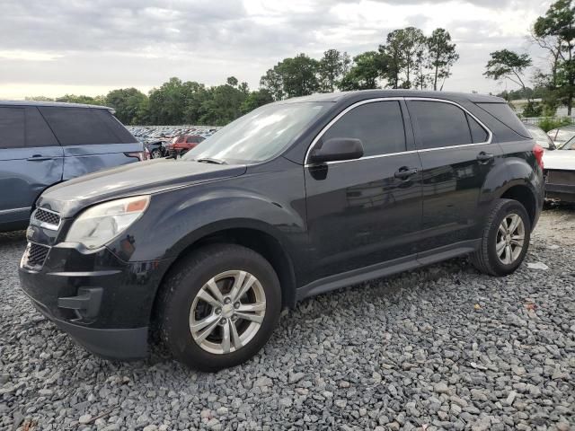
[[[407,27],[388,33],[376,50],[353,58],[337,49],[328,49],[319,59],[304,53],[284,58],[261,76],[260,88],[255,91],[234,76],[227,78],[226,84],[211,87],[173,77],[148,94],[122,88],[105,96],[66,94],[54,100],[110,106],[124,124],[223,126],[271,101],[314,92],[442,90],[458,58],[456,44],[445,29],[426,36],[420,29]]]

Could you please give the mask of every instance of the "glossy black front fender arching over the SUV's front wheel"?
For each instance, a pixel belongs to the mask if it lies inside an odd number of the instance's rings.
[[[299,176],[274,172],[273,180],[244,175],[155,194],[146,214],[109,247],[125,261],[173,259],[209,234],[249,228],[270,234],[290,256],[302,256],[307,235],[300,171]]]

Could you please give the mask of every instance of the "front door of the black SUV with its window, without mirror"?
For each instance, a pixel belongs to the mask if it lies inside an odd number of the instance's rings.
[[[317,142],[360,139],[358,160],[305,166],[307,221],[314,261],[310,279],[417,252],[421,224],[420,158],[403,101],[364,101],[348,109]]]

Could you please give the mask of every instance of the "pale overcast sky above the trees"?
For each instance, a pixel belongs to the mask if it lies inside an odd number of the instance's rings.
[[[234,75],[252,89],[284,57],[351,56],[409,25],[446,28],[460,60],[445,90],[500,92],[489,53],[529,50],[547,0],[2,0],[0,99],[148,92],[171,76],[208,85]],[[508,84],[508,88],[514,88]]]

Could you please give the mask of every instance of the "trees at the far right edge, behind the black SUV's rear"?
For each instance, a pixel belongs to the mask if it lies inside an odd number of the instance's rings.
[[[533,58],[526,52],[500,49],[491,52],[483,75],[496,81],[507,80],[519,90],[503,92],[508,101],[525,98],[525,117],[552,117],[559,106],[566,106],[571,116],[575,100],[575,8],[571,0],[551,4],[538,17],[530,31],[531,43],[543,48],[544,65],[533,68]],[[531,77],[526,76],[532,72]],[[529,81],[535,84],[528,86]],[[521,94],[525,97],[517,97]],[[535,102],[533,99],[542,99]]]

